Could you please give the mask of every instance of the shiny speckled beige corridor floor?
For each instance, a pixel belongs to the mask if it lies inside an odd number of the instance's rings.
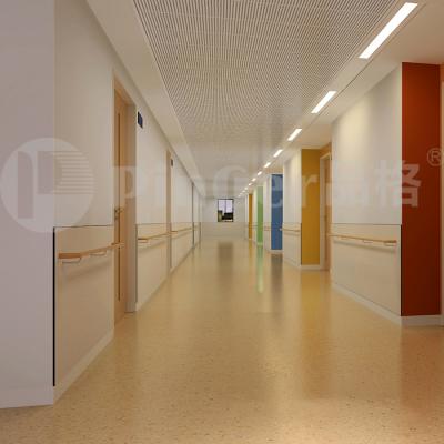
[[[0,443],[444,443],[444,330],[206,241],[56,406],[1,411]]]

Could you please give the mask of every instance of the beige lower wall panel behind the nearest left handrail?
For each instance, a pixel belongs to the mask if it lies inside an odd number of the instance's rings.
[[[81,252],[110,245],[112,226],[81,226],[56,232],[56,252]],[[71,372],[114,327],[113,255],[56,262],[57,387],[69,385]],[[71,381],[72,382],[72,381]]]

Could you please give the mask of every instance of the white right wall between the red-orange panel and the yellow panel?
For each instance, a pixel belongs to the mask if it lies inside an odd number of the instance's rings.
[[[332,280],[342,291],[367,305],[398,316],[402,248],[398,199],[401,68],[336,120],[333,124],[332,157],[332,232],[397,241],[397,248],[391,248],[334,239]]]

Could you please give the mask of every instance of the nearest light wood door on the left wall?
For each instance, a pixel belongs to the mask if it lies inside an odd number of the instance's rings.
[[[127,311],[127,140],[128,108],[124,100],[114,92],[114,242],[123,246],[115,251],[114,261],[114,322],[118,323]]]

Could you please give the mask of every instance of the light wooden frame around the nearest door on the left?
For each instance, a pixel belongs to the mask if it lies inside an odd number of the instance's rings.
[[[131,99],[130,94],[127,92],[122,82],[118,79],[118,77],[113,77],[112,83],[112,138],[113,138],[113,148],[112,148],[112,158],[113,158],[113,169],[114,169],[114,155],[115,155],[115,122],[114,122],[114,113],[115,113],[115,93],[120,95],[123,102],[127,105],[127,137],[125,137],[125,164],[121,165],[123,168],[124,174],[131,180],[131,190],[125,194],[124,206],[125,206],[125,233],[124,233],[124,249],[125,255],[124,261],[121,262],[121,266],[124,266],[127,270],[125,275],[125,293],[127,293],[127,304],[125,304],[125,313],[135,312],[137,303],[138,303],[138,228],[137,228],[137,216],[135,216],[135,184],[137,184],[137,169],[135,169],[135,140],[137,140],[137,108],[135,103]],[[114,171],[113,173],[113,226],[114,226],[114,206],[117,204],[115,196],[115,181],[118,180],[118,174]],[[117,253],[119,254],[119,253]],[[115,273],[115,269],[114,269]],[[114,281],[115,282],[115,281]],[[115,309],[115,289],[113,294],[113,302]]]

